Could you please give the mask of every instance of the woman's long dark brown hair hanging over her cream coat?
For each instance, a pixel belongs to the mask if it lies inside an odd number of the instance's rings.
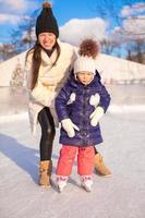
[[[58,41],[56,41],[55,48],[57,49],[57,58],[55,63],[52,64],[52,66],[57,63],[59,56],[60,56],[60,46],[58,44]],[[38,73],[39,73],[39,68],[41,64],[41,56],[40,56],[40,51],[41,51],[41,46],[38,41],[36,41],[35,46],[27,51],[26,53],[26,61],[27,61],[27,57],[31,52],[33,52],[33,60],[32,60],[32,80],[31,80],[31,89],[33,90],[33,88],[35,87],[36,83],[37,83],[37,78],[38,78]]]

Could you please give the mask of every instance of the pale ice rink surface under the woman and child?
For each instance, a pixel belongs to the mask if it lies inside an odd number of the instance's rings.
[[[52,187],[37,184],[39,128],[29,132],[28,118],[0,122],[1,218],[144,218],[145,217],[145,112],[108,112],[101,120],[105,143],[98,146],[112,171],[105,178],[94,173],[93,191],[80,186],[76,162],[69,184],[56,189],[59,130],[53,143]]]

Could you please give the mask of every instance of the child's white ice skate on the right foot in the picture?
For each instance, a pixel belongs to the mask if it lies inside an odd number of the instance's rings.
[[[81,186],[86,191],[90,192],[92,191],[92,175],[81,175]]]

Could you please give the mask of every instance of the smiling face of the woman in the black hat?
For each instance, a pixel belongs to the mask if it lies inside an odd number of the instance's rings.
[[[38,35],[38,40],[43,48],[51,50],[56,44],[56,35],[52,33],[41,33]]]

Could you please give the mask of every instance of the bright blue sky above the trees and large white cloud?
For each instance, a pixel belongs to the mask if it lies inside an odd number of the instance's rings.
[[[0,43],[10,43],[11,31],[16,28],[21,17],[29,15],[35,10],[41,9],[41,0],[0,0]],[[110,2],[109,0],[52,0],[53,13],[58,20],[59,26],[65,26],[65,24],[74,19],[90,20],[99,17],[100,14],[97,11],[97,2]],[[128,5],[125,2],[130,2]],[[116,12],[120,15],[130,16],[136,15],[136,11],[140,15],[145,16],[145,1],[144,0],[116,0]],[[144,10],[136,10],[133,5],[142,3]],[[135,9],[135,10],[134,10]],[[134,14],[133,14],[134,13]],[[137,14],[137,15],[138,15]],[[109,28],[114,28],[117,24],[111,19],[113,14],[109,15],[105,23]],[[100,21],[104,23],[104,21]],[[105,23],[102,25],[105,25]],[[70,24],[70,23],[69,23]],[[105,27],[104,27],[105,28]],[[63,33],[63,35],[65,32]]]

